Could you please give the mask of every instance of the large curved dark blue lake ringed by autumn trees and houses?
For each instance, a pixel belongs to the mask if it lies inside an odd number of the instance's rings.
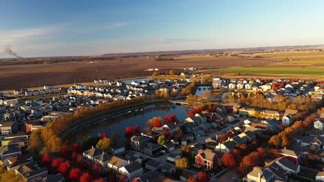
[[[177,119],[183,121],[188,117],[188,110],[190,110],[190,108],[178,105],[152,105],[152,108],[143,111],[132,111],[128,114],[123,114],[120,117],[107,119],[107,121],[90,125],[89,127],[78,131],[75,134],[75,137],[76,140],[80,140],[89,135],[97,136],[98,133],[106,133],[109,136],[111,132],[115,131],[119,132],[120,136],[123,137],[127,126],[132,126],[134,128],[135,125],[139,125],[143,131],[147,120],[152,119],[153,117],[162,117],[164,119],[165,115],[171,114],[176,114]]]

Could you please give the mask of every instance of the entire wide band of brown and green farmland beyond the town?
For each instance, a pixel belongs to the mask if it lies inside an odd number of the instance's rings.
[[[183,68],[199,67],[199,72],[219,72],[224,76],[234,72],[250,74],[257,77],[280,77],[298,75],[312,76],[314,79],[324,79],[324,52],[300,51],[258,53],[262,58],[231,57],[231,54],[243,52],[228,52],[228,55],[215,57],[211,54],[181,54],[167,55],[171,61],[156,61],[155,56],[109,56],[107,59],[90,61],[98,57],[75,57],[60,59],[55,62],[42,59],[22,59],[21,61],[1,61],[0,90],[15,88],[37,88],[43,85],[62,85],[67,83],[93,82],[94,79],[125,79],[132,77],[147,77],[158,68],[159,72],[175,70],[183,72]],[[293,61],[282,61],[288,57]],[[100,58],[100,57],[99,57]],[[76,61],[74,61],[76,60]],[[30,61],[30,62],[28,62]],[[27,63],[28,62],[28,63]],[[214,71],[213,71],[214,70]]]

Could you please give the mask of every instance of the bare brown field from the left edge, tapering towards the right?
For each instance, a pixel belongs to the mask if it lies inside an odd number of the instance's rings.
[[[261,65],[274,62],[272,59],[246,59],[237,57],[174,57],[173,61],[155,61],[147,57],[116,58],[100,61],[69,61],[59,63],[33,63],[0,65],[0,90],[42,87],[66,83],[93,82],[94,79],[124,79],[152,75],[149,68],[160,72],[173,69],[199,67],[205,70],[233,66]]]

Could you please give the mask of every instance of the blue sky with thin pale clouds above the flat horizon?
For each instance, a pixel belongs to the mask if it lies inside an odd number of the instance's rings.
[[[3,0],[0,57],[324,44],[324,1]]]

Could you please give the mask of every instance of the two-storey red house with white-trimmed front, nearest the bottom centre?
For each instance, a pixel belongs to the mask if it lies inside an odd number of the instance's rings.
[[[213,170],[217,166],[217,154],[213,150],[199,150],[195,156],[197,165],[201,165],[204,170]]]

